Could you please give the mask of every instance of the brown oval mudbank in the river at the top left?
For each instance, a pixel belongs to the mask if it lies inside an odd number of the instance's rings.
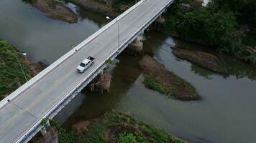
[[[29,0],[32,6],[40,9],[50,19],[65,21],[70,24],[78,21],[78,16],[68,7],[52,0]]]

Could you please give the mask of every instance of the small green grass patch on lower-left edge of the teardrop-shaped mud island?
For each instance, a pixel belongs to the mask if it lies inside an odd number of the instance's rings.
[[[161,92],[162,94],[168,94],[168,88],[165,87],[165,85],[157,82],[152,75],[146,76],[143,84],[145,84],[146,87],[149,89],[156,90],[158,92]]]

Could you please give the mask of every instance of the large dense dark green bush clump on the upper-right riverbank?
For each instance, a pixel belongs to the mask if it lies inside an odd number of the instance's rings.
[[[202,41],[216,47],[218,51],[234,53],[239,51],[241,38],[233,36],[237,29],[236,16],[230,10],[217,10],[214,6],[180,9],[181,1],[175,1],[167,14],[165,29],[185,39]]]

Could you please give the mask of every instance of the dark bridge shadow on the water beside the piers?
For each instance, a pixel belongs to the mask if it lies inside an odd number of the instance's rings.
[[[117,56],[119,63],[110,71],[112,74],[111,88],[109,93],[99,94],[91,92],[88,87],[83,89],[81,94],[85,96],[83,103],[67,119],[64,127],[71,127],[76,122],[98,117],[116,107],[122,97],[127,94],[129,88],[140,76],[142,70],[138,65],[141,56],[129,56],[124,52]]]

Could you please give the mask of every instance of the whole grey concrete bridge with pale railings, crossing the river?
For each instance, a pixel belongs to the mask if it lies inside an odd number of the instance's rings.
[[[0,142],[28,142],[134,39],[155,21],[173,0],[142,0],[106,24],[0,102]],[[81,29],[83,30],[83,29]],[[96,58],[85,73],[76,66]]]

